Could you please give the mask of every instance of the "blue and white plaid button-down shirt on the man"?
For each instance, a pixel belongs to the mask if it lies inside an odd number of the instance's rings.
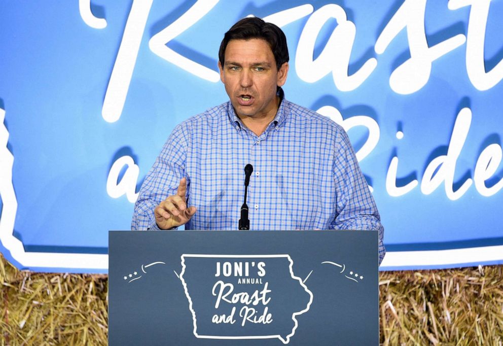
[[[346,132],[284,97],[260,136],[230,101],[177,125],[141,186],[131,229],[159,229],[154,209],[183,177],[187,206],[197,207],[186,229],[238,229],[247,163],[251,230],[377,230],[381,263],[384,228]]]

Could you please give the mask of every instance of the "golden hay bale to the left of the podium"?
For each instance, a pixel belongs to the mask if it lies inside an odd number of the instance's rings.
[[[107,344],[107,275],[20,271],[0,257],[1,345]]]

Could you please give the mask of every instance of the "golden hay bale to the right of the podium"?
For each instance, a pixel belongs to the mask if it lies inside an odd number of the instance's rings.
[[[503,343],[501,266],[379,275],[381,343]]]

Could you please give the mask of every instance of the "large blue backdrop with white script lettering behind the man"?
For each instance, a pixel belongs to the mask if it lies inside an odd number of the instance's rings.
[[[0,9],[0,251],[18,267],[107,271],[108,231],[129,229],[171,130],[228,99],[218,49],[248,15],[286,34],[286,97],[348,131],[385,227],[381,269],[503,263],[503,3]]]

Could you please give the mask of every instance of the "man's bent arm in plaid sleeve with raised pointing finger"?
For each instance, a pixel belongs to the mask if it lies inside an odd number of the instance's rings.
[[[190,181],[182,182],[182,178],[187,176],[185,170],[187,148],[187,123],[182,123],[176,126],[169,136],[141,185],[138,199],[134,204],[132,230],[158,230],[159,226],[163,229],[176,227],[188,221],[185,217],[190,219],[194,215],[195,207],[185,209],[187,184],[190,185]],[[184,209],[183,212],[187,215],[174,221],[175,218],[171,216],[179,215],[175,215],[178,212],[173,210],[173,205],[176,209]],[[185,222],[182,222],[184,220]]]

